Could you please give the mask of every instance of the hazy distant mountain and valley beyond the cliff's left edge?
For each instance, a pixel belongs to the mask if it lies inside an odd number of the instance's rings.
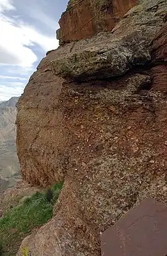
[[[0,103],[0,184],[15,185],[19,176],[16,150],[16,104],[19,97]]]

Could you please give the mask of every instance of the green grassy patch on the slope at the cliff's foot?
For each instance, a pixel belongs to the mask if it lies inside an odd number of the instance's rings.
[[[62,186],[63,183],[58,183],[44,192],[36,192],[5,213],[0,219],[0,256],[16,255],[24,237],[52,217]],[[26,254],[25,249],[23,255]]]

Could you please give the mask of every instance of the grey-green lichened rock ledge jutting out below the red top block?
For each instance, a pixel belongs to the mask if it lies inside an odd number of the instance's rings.
[[[167,12],[166,1],[146,1],[125,15],[112,33],[71,43],[57,52],[51,68],[72,80],[120,76],[150,60],[150,45]]]

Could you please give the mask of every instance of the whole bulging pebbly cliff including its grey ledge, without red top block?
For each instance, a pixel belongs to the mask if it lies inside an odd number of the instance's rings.
[[[54,218],[17,255],[100,255],[100,233],[132,206],[167,203],[166,10],[140,1],[111,32],[49,52],[31,76],[17,114],[22,176],[64,185]]]

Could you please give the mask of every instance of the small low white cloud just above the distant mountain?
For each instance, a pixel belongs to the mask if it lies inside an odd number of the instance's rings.
[[[18,97],[23,91],[23,86],[10,87],[7,85],[0,85],[0,101],[7,101],[11,97]]]

